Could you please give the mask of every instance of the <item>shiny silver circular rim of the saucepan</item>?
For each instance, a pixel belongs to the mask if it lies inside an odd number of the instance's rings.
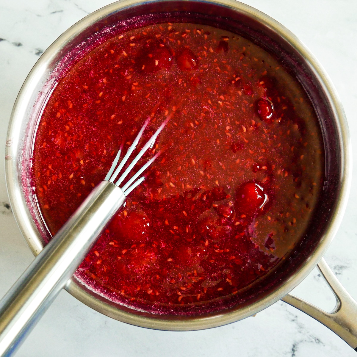
[[[157,3],[160,1],[162,0],[154,0],[149,3]],[[165,0],[165,2],[170,1],[171,0]],[[335,211],[333,212],[331,220],[327,225],[323,239],[320,241],[313,254],[308,257],[306,263],[295,273],[293,273],[293,275],[285,283],[273,290],[270,294],[263,296],[260,300],[237,310],[228,310],[226,312],[221,311],[219,313],[212,314],[212,316],[198,315],[195,317],[175,316],[174,318],[170,318],[166,316],[163,317],[149,314],[137,315],[134,312],[119,310],[115,304],[112,304],[110,301],[101,298],[99,295],[93,294],[93,292],[85,288],[73,277],[69,280],[65,287],[66,290],[71,293],[71,295],[85,303],[87,306],[90,306],[95,310],[103,313],[104,315],[110,316],[122,322],[130,323],[132,325],[154,328],[157,330],[188,331],[217,327],[251,316],[280,300],[312,271],[312,269],[322,258],[323,254],[326,252],[328,246],[330,245],[333,237],[337,232],[338,227],[340,226],[343,213],[345,212],[347,205],[348,193],[351,186],[352,151],[345,113],[343,111],[336,90],[333,87],[325,70],[323,70],[322,66],[306,48],[306,46],[303,45],[302,42],[292,34],[292,32],[287,30],[279,22],[272,19],[270,16],[264,14],[263,12],[258,11],[251,6],[242,4],[241,2],[235,0],[191,0],[191,2],[201,2],[205,3],[205,5],[212,4],[215,6],[218,5],[222,7],[228,7],[229,9],[237,11],[240,14],[252,18],[253,20],[260,21],[276,34],[281,36],[296,51],[298,51],[300,55],[305,58],[306,63],[310,66],[310,68],[313,69],[315,76],[319,79],[324,95],[327,97],[327,100],[333,111],[333,116],[336,119],[336,130],[341,146],[341,179],[339,182],[340,190],[338,197],[336,198]],[[53,44],[44,52],[44,54],[42,54],[40,59],[32,68],[30,74],[27,76],[24,84],[21,87],[19,95],[17,96],[14,108],[11,113],[10,124],[7,133],[5,156],[6,184],[15,219],[20,227],[22,235],[25,237],[25,240],[34,255],[37,255],[41,251],[43,247],[43,241],[29,213],[26,197],[24,197],[22,193],[21,182],[18,175],[20,165],[20,160],[18,160],[18,157],[20,156],[19,147],[22,145],[20,131],[23,130],[22,124],[25,119],[26,108],[30,105],[33,105],[33,103],[30,102],[31,94],[34,92],[35,85],[45,72],[47,65],[53,61],[54,57],[61,49],[65,48],[67,43],[69,43],[77,35],[81,34],[81,32],[83,32],[89,26],[95,24],[99,20],[105,19],[110,14],[122,11],[129,7],[140,6],[142,4],[148,4],[148,2],[142,0],[117,1],[89,14],[84,19],[70,27],[53,42]]]

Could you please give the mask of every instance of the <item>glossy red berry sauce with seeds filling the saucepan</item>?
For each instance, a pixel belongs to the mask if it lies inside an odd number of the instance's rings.
[[[139,164],[162,154],[77,278],[149,311],[253,288],[300,241],[321,189],[321,133],[302,87],[260,47],[210,26],[105,42],[59,82],[36,133],[32,184],[52,235],[148,116],[139,149],[171,119]]]

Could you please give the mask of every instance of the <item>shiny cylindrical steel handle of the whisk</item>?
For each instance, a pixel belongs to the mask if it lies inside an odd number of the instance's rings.
[[[124,205],[124,192],[101,181],[0,301],[0,356],[20,346]]]

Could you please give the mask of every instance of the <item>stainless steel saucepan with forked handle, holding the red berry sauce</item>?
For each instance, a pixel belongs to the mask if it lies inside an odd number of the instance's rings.
[[[42,110],[56,82],[73,65],[77,54],[106,40],[105,36],[109,34],[106,30],[112,24],[116,24],[116,29],[140,26],[140,21],[130,20],[133,16],[142,16],[146,19],[145,24],[184,21],[213,25],[242,35],[278,57],[301,82],[320,121],[325,145],[323,191],[300,245],[273,274],[258,283],[254,294],[247,290],[228,308],[191,316],[155,315],[110,301],[75,276],[68,281],[66,290],[86,305],[117,320],[171,331],[225,325],[283,300],[322,322],[356,349],[357,303],[323,260],[341,223],[350,190],[351,143],[345,114],[328,76],[306,47],[271,17],[234,0],[118,1],[77,22],[42,54],[17,96],[5,156],[12,211],[32,252],[37,255],[49,238],[30,187],[34,136]],[[289,294],[316,265],[336,296],[336,307],[331,313]]]

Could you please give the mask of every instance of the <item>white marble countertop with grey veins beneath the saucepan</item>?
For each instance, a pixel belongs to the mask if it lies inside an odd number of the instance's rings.
[[[110,0],[0,0],[0,157],[12,105],[41,53],[68,27]],[[294,32],[320,60],[346,111],[357,168],[357,1],[245,0]],[[0,165],[0,297],[34,258],[12,216]],[[357,178],[353,170],[353,181]],[[357,299],[357,187],[326,261]],[[331,309],[334,297],[315,269],[294,291]],[[255,317],[204,331],[165,332],[126,325],[62,291],[17,357],[356,356],[325,326],[277,302]]]

